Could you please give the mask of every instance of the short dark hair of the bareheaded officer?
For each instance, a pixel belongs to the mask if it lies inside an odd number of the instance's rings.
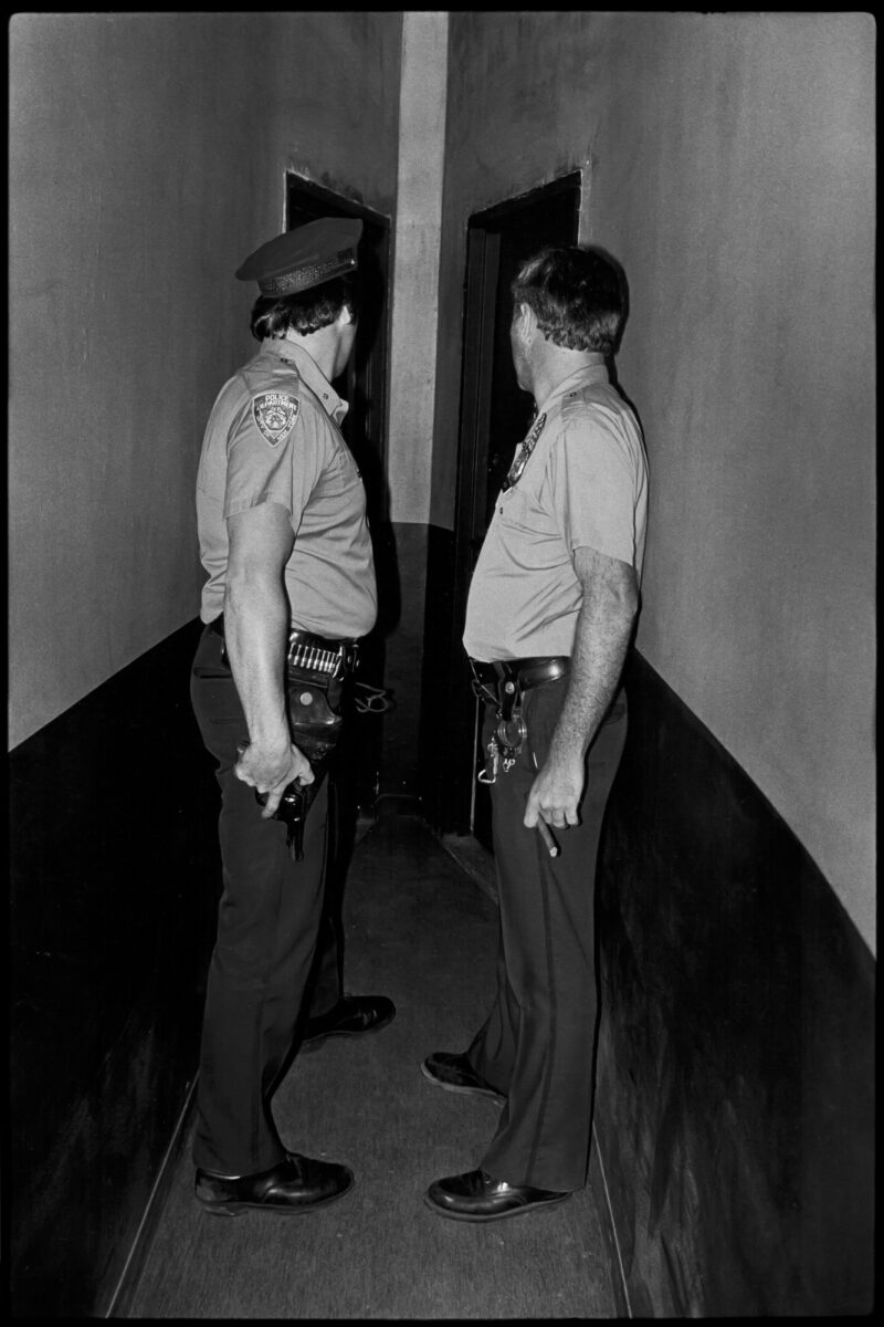
[[[627,316],[623,268],[599,248],[547,245],[527,259],[510,285],[553,345],[615,353]]]

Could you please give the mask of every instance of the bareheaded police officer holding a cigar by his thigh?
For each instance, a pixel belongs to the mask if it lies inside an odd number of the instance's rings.
[[[626,317],[622,272],[598,249],[549,248],[512,289],[513,362],[537,418],[497,499],[464,632],[488,702],[497,995],[464,1054],[421,1066],[437,1087],[504,1103],[478,1166],[427,1192],[461,1221],[533,1212],[586,1184],[595,861],[626,736],[647,512],[639,423],[606,366]]]

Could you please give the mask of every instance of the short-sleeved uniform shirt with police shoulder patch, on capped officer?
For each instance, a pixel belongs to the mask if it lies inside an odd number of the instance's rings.
[[[196,480],[200,616],[224,610],[227,519],[265,502],[289,512],[285,565],[292,626],[329,638],[366,636],[376,617],[366,495],[338,425],[347,405],[294,341],[266,340],[221,389]]]

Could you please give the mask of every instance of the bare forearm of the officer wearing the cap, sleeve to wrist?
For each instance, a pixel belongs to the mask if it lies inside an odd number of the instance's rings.
[[[285,706],[285,650],[289,605],[278,576],[229,577],[224,597],[224,637],[249,742],[268,752],[289,748]]]

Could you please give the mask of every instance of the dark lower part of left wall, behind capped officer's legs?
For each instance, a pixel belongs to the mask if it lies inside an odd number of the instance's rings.
[[[220,893],[199,632],[9,756],[13,1316],[107,1314],[193,1083]]]

